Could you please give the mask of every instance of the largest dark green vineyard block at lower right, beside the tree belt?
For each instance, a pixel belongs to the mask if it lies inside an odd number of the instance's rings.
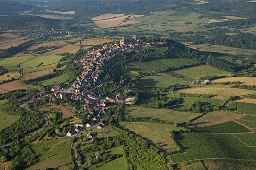
[[[186,153],[170,155],[173,162],[193,159],[256,159],[253,153],[230,134],[183,133],[175,139]]]

